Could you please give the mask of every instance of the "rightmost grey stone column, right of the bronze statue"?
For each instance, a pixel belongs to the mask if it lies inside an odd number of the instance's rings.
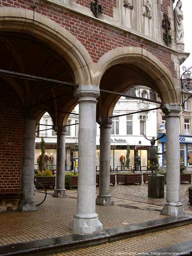
[[[166,202],[162,215],[173,217],[185,214],[180,201],[180,144],[179,144],[179,105],[161,106],[166,115]]]

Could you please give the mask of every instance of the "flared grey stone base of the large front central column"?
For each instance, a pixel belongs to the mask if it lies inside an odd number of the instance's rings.
[[[89,234],[102,231],[102,224],[98,220],[97,214],[75,214],[74,220],[70,224],[70,229],[72,229],[75,233]]]

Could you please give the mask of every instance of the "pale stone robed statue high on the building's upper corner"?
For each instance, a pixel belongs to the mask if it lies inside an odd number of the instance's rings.
[[[176,44],[184,45],[183,12],[181,10],[181,7],[182,2],[179,0],[174,9],[175,40]]]

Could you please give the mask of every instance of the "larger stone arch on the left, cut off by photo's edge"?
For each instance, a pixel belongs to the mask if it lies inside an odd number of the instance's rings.
[[[0,8],[1,32],[18,32],[32,35],[44,41],[69,63],[77,84],[92,84],[89,65],[92,59],[88,51],[68,30],[53,20],[33,11],[2,7]]]

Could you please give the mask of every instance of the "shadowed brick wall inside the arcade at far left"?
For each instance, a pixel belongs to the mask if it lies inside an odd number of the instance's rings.
[[[22,169],[22,102],[7,84],[0,84],[0,92],[0,191],[16,191]]]

